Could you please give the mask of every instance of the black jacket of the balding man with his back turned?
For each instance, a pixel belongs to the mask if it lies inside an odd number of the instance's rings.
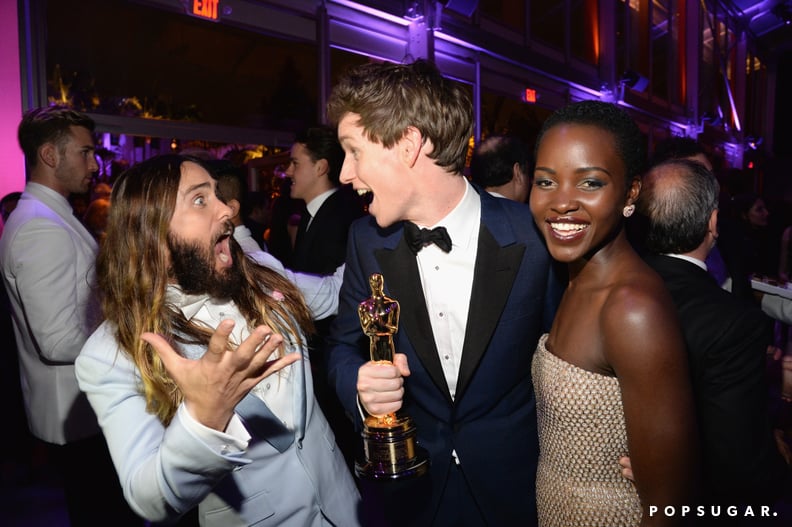
[[[772,321],[695,264],[646,255],[676,304],[701,438],[703,497],[772,503],[786,466],[772,436],[765,380]]]

